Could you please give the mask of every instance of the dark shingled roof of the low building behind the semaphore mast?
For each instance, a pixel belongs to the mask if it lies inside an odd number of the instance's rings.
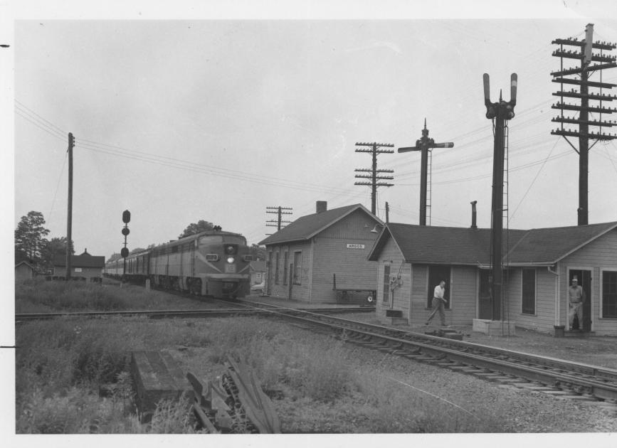
[[[617,222],[504,230],[503,261],[510,265],[554,265],[614,228],[617,228]],[[379,260],[379,253],[390,237],[394,239],[406,262],[440,265],[490,264],[490,229],[390,223],[377,238],[369,253],[369,260]]]

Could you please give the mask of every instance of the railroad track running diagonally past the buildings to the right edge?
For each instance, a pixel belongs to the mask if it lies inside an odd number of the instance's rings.
[[[601,402],[617,412],[615,369],[364,324],[312,311],[298,313],[270,304],[255,305],[270,310],[274,316],[295,319],[302,328],[366,348],[558,398]]]

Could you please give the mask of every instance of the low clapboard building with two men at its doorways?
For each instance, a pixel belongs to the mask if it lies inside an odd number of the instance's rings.
[[[502,319],[526,329],[569,328],[568,288],[576,276],[588,300],[581,329],[617,336],[617,223],[505,230]],[[393,311],[421,325],[433,288],[446,281],[448,324],[492,319],[490,229],[390,223],[369,254],[379,263],[377,316]]]

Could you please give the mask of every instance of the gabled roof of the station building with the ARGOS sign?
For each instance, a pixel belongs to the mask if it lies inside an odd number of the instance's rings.
[[[260,245],[278,244],[281,242],[290,241],[305,241],[313,238],[317,233],[322,232],[334,223],[339,222],[347,215],[350,215],[356,210],[362,210],[375,220],[375,223],[383,224],[383,222],[366,209],[362,204],[354,204],[353,206],[344,206],[325,210],[312,215],[305,215],[297,218],[294,222],[280,229],[277,233],[270,235],[265,240],[259,242]]]

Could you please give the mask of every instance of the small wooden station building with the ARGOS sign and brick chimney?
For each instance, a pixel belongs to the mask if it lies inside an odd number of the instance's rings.
[[[302,302],[336,302],[337,289],[374,290],[377,267],[366,257],[383,226],[361,204],[302,216],[261,241],[267,254],[266,294]],[[371,232],[371,230],[374,230]]]

